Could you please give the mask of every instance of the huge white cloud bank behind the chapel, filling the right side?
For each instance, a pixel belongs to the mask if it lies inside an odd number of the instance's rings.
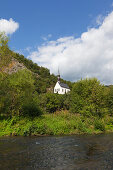
[[[98,28],[89,29],[80,38],[50,41],[28,57],[55,74],[59,67],[67,80],[97,77],[102,83],[113,84],[113,12]]]

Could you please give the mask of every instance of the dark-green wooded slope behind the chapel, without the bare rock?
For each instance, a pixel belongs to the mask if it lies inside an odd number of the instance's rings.
[[[20,63],[34,73],[35,76],[35,85],[38,93],[45,93],[49,89],[53,90],[53,87],[57,81],[57,76],[50,74],[50,71],[47,68],[40,67],[36,63],[33,63],[31,60],[26,59],[23,55],[14,53],[14,58],[17,59]],[[63,83],[67,83],[70,88],[72,84],[70,81],[61,79]]]

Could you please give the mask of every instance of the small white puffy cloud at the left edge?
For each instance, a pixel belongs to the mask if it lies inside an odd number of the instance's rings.
[[[19,23],[15,22],[12,18],[9,20],[0,19],[0,32],[6,34],[13,34],[19,28]]]

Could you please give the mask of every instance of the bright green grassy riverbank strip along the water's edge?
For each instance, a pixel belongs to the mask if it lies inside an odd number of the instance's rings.
[[[13,117],[0,120],[0,136],[97,134],[113,132],[113,117],[84,117],[60,112],[40,117]]]

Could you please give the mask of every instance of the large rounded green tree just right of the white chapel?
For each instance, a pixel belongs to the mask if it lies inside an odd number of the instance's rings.
[[[76,82],[71,91],[71,111],[84,116],[106,114],[104,86],[96,78]]]

